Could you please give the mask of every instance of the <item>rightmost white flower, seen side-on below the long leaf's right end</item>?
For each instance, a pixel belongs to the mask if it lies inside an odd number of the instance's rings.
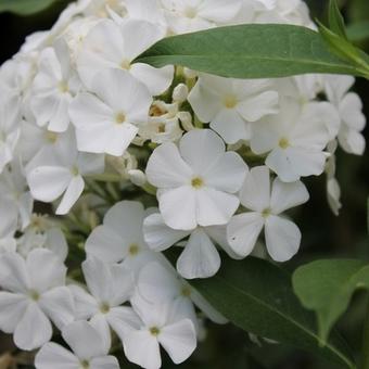
[[[361,131],[366,126],[366,117],[358,94],[348,92],[354,82],[355,78],[351,76],[325,76],[327,97],[341,118],[340,145],[351,154],[362,155],[366,141]]]

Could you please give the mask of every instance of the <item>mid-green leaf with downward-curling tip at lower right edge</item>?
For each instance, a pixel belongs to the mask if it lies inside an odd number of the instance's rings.
[[[326,342],[357,289],[369,289],[369,265],[361,260],[317,260],[300,267],[293,288],[303,305],[315,310],[319,338]]]

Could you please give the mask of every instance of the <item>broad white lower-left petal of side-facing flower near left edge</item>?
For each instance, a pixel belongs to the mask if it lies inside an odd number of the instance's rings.
[[[72,173],[67,168],[42,166],[31,170],[27,181],[36,200],[52,202],[67,189],[71,178]]]

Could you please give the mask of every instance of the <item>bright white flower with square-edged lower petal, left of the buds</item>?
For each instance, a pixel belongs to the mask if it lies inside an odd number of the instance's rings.
[[[93,79],[91,92],[71,104],[78,150],[122,156],[139,128],[148,123],[152,99],[127,72],[106,69]]]

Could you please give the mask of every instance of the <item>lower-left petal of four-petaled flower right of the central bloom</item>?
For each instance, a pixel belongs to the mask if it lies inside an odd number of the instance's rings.
[[[258,213],[236,215],[227,227],[229,245],[240,256],[250,255],[263,226],[264,218]]]

